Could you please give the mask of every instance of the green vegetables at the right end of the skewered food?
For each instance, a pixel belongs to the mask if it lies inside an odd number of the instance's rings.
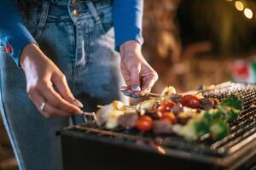
[[[213,101],[214,104],[214,101]],[[230,96],[223,99],[216,109],[204,111],[202,116],[190,119],[179,132],[185,139],[198,139],[205,133],[211,133],[213,139],[223,139],[229,134],[230,127],[227,122],[234,122],[241,114],[241,99]],[[212,104],[211,104],[212,105]],[[234,108],[236,105],[236,108]],[[184,109],[186,111],[187,109]],[[179,117],[179,116],[178,116]],[[177,119],[179,122],[179,119]]]

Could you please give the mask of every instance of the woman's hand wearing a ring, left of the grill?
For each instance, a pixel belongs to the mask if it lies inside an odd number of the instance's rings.
[[[23,49],[20,65],[26,75],[28,97],[43,116],[82,114],[80,108],[83,105],[73,97],[65,75],[38,46],[28,44]],[[44,102],[45,106],[42,108]]]

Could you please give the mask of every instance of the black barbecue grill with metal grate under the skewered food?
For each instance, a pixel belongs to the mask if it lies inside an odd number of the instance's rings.
[[[195,142],[175,135],[142,133],[117,127],[108,130],[93,122],[60,132],[64,168],[69,169],[252,169],[256,164],[256,86],[225,82],[205,97],[239,95],[243,111],[230,124],[230,135],[218,141],[205,134]]]

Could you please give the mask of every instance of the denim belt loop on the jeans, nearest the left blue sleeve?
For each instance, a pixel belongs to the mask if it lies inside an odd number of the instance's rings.
[[[49,3],[48,2],[44,2],[43,3],[43,7],[42,7],[42,12],[40,14],[40,20],[39,20],[39,24],[38,24],[38,31],[37,31],[37,35],[35,36],[35,39],[38,39],[41,34],[42,31],[44,30],[44,26],[48,17],[48,12],[49,12]]]

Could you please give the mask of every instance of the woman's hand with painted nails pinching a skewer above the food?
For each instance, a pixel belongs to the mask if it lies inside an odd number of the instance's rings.
[[[144,59],[141,45],[136,41],[125,42],[120,46],[120,54],[121,71],[127,85],[122,88],[124,94],[137,98],[150,92],[158,75]]]

